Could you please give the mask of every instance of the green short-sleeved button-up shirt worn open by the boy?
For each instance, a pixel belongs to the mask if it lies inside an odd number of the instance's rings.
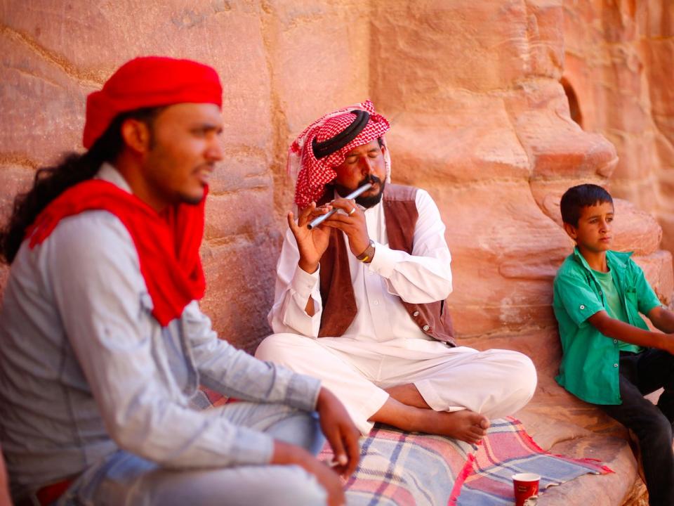
[[[648,330],[639,313],[647,314],[660,301],[632,253],[609,251],[606,261],[630,325]],[[602,286],[590,266],[574,249],[555,277],[553,309],[560,325],[562,364],[555,380],[575,396],[593,404],[621,404],[619,341],[604,336],[587,320],[607,310]]]

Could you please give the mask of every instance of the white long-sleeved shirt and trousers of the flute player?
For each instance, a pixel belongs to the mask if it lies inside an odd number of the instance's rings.
[[[536,384],[526,356],[450,347],[425,335],[407,314],[401,299],[414,304],[444,300],[452,288],[451,254],[440,212],[421,189],[416,192],[416,208],[411,254],[388,246],[381,202],[364,209],[375,254],[370,264],[348,255],[357,314],[340,337],[317,339],[323,311],[319,270],[309,274],[298,267],[299,252],[289,230],[277,266],[275,304],[268,316],[276,334],[256,351],[258,358],[321,378],[364,434],[372,426],[369,418],[388,398],[383,389],[396,384],[414,383],[432,409],[470,408],[492,416],[519,409]],[[313,316],[305,311],[310,298]],[[513,385],[514,396],[505,388],[508,375],[513,380],[522,376]],[[480,381],[466,381],[473,377]]]

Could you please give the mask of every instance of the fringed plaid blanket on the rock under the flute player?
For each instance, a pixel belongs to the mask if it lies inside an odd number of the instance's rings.
[[[331,460],[329,446],[319,458]],[[480,445],[375,426],[361,461],[346,481],[349,506],[512,505],[511,476],[541,475],[541,491],[582,474],[611,469],[594,459],[552,455],[512,417],[492,420]]]

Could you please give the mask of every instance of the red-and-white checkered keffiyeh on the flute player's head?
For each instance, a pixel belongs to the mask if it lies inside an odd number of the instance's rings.
[[[340,150],[317,159],[312,149],[314,139],[317,142],[326,141],[344,131],[354,121],[355,115],[351,111],[356,109],[369,112],[370,117],[365,128]],[[374,112],[374,104],[370,100],[330,112],[310,124],[293,141],[288,150],[286,168],[291,177],[296,180],[295,203],[297,207],[303,209],[311,202],[317,202],[323,196],[326,184],[336,178],[337,173],[334,169],[343,164],[346,154],[359,145],[367,144],[376,138],[383,139],[388,129],[390,129],[388,120]],[[384,140],[384,145],[385,142]],[[384,160],[388,181],[391,167],[388,149],[385,150]]]

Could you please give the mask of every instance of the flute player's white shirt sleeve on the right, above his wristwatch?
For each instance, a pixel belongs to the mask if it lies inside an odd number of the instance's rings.
[[[412,254],[375,243],[369,268],[385,278],[390,294],[423,304],[447,299],[451,293],[451,254],[440,211],[425,190],[417,190],[416,208]]]

